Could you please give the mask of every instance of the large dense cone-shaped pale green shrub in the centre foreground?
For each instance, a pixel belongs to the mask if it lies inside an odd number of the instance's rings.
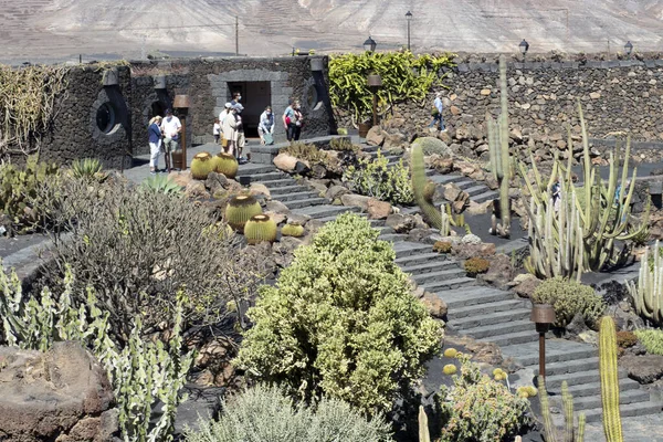
[[[378,235],[345,213],[299,246],[249,311],[254,326],[235,365],[306,400],[324,393],[368,413],[390,410],[424,373],[442,330]]]

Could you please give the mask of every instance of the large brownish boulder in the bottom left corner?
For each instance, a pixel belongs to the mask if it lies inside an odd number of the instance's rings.
[[[0,439],[109,441],[118,413],[105,370],[80,344],[46,352],[0,347]]]

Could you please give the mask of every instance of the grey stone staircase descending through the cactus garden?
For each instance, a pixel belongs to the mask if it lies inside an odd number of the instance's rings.
[[[294,213],[320,222],[333,221],[344,212],[359,212],[358,208],[329,204],[328,200],[297,185],[273,166],[243,165],[240,166],[239,176],[262,182],[272,192],[272,198],[285,203]],[[480,200],[492,199],[496,194],[487,188],[475,189],[478,186],[474,181],[460,176],[434,175],[433,179],[440,183],[456,182],[478,196]],[[393,243],[397,264],[419,286],[446,303],[448,333],[495,343],[506,357],[513,357],[525,367],[513,376],[514,380],[520,378],[518,383],[535,382],[538,372],[538,334],[529,320],[529,301],[480,285],[476,280],[465,276],[460,262],[433,253],[431,244],[408,241],[408,235],[394,233],[383,221],[371,220],[371,225],[380,230],[380,239]],[[550,336],[546,360],[547,387],[554,407],[561,409],[560,388],[562,380],[566,380],[573,394],[576,410],[585,411],[588,422],[599,421],[601,397],[597,348]],[[620,371],[620,392],[622,417],[654,414],[662,410],[661,403],[652,401],[650,393],[623,371]],[[561,419],[561,415],[556,414],[557,418]]]

